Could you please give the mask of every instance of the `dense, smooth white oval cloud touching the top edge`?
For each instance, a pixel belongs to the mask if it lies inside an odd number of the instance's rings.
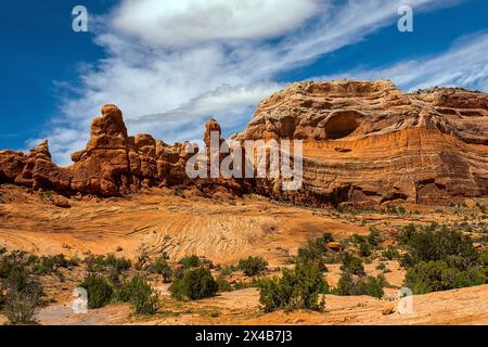
[[[319,10],[317,0],[124,0],[112,27],[158,46],[283,35]]]

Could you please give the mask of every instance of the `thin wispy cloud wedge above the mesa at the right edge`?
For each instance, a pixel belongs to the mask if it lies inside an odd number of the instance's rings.
[[[358,69],[316,79],[391,79],[399,88],[465,87],[488,92],[488,33],[462,38],[435,56],[401,61],[373,69]]]

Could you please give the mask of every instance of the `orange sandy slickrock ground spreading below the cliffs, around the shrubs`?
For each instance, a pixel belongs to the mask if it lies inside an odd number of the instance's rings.
[[[0,188],[0,247],[37,255],[84,258],[88,254],[116,254],[136,259],[141,254],[167,252],[171,259],[196,254],[215,265],[261,256],[270,274],[286,266],[308,240],[330,232],[337,241],[380,229],[387,244],[398,226],[414,223],[486,223],[475,202],[464,207],[408,205],[403,215],[380,211],[339,213],[336,209],[297,207],[261,196],[205,198],[192,191],[177,196],[170,190],[152,190],[129,198],[72,197],[70,208],[60,208],[42,193],[14,185]],[[484,202],[486,203],[486,202]],[[415,213],[412,213],[415,211]],[[421,214],[419,214],[419,211]],[[50,304],[39,316],[40,324],[487,324],[488,285],[431,293],[413,297],[414,311],[394,310],[404,271],[398,261],[384,261],[388,287],[385,297],[326,295],[324,312],[273,312],[259,309],[259,292],[244,288],[200,301],[172,299],[168,285],[155,284],[162,308],[151,318],[133,317],[128,305],[110,305],[88,314],[70,309],[72,291],[84,269],[42,279]],[[365,265],[377,274],[378,260]],[[326,280],[335,285],[339,265],[328,265]],[[0,316],[0,322],[5,319]]]

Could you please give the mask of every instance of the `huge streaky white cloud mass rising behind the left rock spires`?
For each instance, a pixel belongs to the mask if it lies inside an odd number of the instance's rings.
[[[416,13],[452,1],[411,0]],[[253,4],[253,5],[252,5]],[[106,57],[80,70],[77,95],[46,133],[69,164],[103,104],[124,111],[129,132],[193,139],[209,116],[233,131],[279,85],[278,74],[396,26],[390,0],[124,0],[98,25]],[[272,40],[270,40],[272,38]],[[150,115],[150,116],[144,116]]]

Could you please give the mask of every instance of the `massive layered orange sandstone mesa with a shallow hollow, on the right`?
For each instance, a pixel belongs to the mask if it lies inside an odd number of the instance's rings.
[[[261,102],[240,140],[304,141],[304,185],[258,193],[316,205],[450,204],[488,194],[488,95],[402,93],[380,80],[299,82]]]

